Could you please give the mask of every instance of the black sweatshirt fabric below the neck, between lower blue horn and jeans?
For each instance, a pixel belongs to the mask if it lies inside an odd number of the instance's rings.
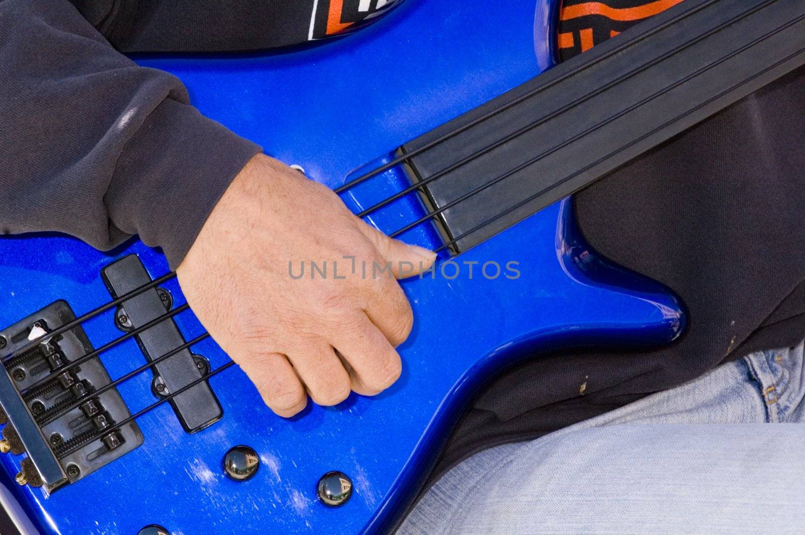
[[[800,68],[577,194],[590,244],[674,290],[687,332],[654,352],[535,356],[477,398],[432,477],[476,451],[538,438],[726,360],[802,340],[803,147]]]

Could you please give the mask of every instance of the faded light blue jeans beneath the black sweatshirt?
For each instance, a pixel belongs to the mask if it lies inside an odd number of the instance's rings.
[[[442,476],[398,534],[803,534],[803,365],[803,344],[753,353],[482,451]]]

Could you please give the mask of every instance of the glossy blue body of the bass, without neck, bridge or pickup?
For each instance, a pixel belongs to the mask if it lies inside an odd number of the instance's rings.
[[[408,0],[373,26],[314,47],[139,62],[175,73],[202,113],[334,188],[404,142],[549,68],[556,4],[510,0],[492,9],[484,2]],[[343,196],[365,208],[404,180],[394,168]],[[168,201],[182,209],[180,199]],[[422,211],[410,195],[370,220],[391,232]],[[432,249],[442,243],[427,224],[402,238]],[[132,253],[152,278],[167,272],[161,253],[138,241],[101,253],[71,237],[3,237],[0,326],[60,299],[76,315],[109,302],[101,270]],[[471,278],[469,262],[477,262]],[[381,395],[308,405],[283,419],[262,404],[239,368],[229,368],[209,380],[223,408],[219,421],[188,434],[164,403],[137,419],[141,446],[55,492],[17,484],[24,455],[0,456],[4,505],[41,533],[133,535],[152,524],[176,535],[382,532],[410,504],[460,410],[493,374],[562,348],[667,344],[683,329],[680,305],[667,289],[589,249],[570,200],[452,264],[443,252],[434,276],[402,284],[415,327],[399,348],[403,376]],[[184,303],[175,279],[162,286],[174,308]],[[185,340],[203,332],[191,311],[175,322]],[[122,334],[113,311],[83,327],[96,348]],[[212,368],[228,360],[212,340],[192,351]],[[101,360],[113,379],[145,362],[134,340]],[[157,400],[150,372],[118,389],[132,414]],[[222,470],[226,451],[238,444],[260,458],[246,481]],[[353,496],[340,507],[316,497],[320,476],[333,470],[353,481]]]

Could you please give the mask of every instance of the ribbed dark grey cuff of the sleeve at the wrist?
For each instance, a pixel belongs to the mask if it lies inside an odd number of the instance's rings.
[[[262,148],[170,98],[142,123],[105,195],[111,224],[162,247],[175,270],[229,183]]]

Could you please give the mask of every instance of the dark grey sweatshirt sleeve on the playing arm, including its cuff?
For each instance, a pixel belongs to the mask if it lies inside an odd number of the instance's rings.
[[[123,56],[68,0],[0,0],[0,230],[97,249],[133,234],[175,269],[260,147]]]

